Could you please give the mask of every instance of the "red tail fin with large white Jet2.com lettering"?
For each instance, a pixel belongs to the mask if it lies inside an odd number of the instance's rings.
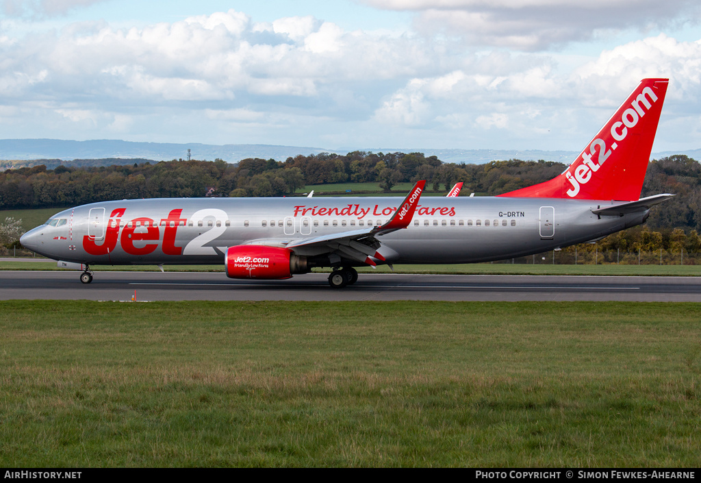
[[[501,197],[637,201],[669,79],[643,79],[557,178]]]

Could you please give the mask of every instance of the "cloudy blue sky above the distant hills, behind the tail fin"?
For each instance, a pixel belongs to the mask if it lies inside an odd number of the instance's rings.
[[[701,147],[697,0],[0,0],[0,138],[579,151],[645,77]]]

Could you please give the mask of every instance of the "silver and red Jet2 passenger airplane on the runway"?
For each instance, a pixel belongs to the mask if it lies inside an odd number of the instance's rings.
[[[182,198],[101,201],[67,209],[23,246],[93,281],[94,265],[223,263],[233,279],[289,279],[332,267],[477,263],[542,253],[644,223],[639,199],[668,79],[643,79],[559,176],[496,197]]]

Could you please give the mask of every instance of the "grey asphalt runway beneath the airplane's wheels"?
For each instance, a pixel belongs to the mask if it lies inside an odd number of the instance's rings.
[[[201,272],[0,272],[0,300],[621,300],[701,302],[701,277],[361,274],[332,289],[327,274],[233,280]]]

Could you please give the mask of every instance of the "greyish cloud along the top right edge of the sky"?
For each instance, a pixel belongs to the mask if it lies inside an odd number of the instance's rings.
[[[426,35],[444,33],[472,45],[537,51],[603,32],[699,24],[695,0],[362,0],[376,8],[414,11]]]

